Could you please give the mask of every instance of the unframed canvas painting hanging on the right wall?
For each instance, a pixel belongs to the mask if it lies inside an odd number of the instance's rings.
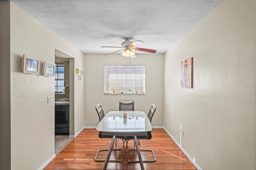
[[[181,83],[182,88],[192,88],[193,57],[181,62]]]

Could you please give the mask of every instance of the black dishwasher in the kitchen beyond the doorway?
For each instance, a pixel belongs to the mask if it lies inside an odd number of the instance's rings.
[[[69,135],[69,105],[55,105],[55,134]]]

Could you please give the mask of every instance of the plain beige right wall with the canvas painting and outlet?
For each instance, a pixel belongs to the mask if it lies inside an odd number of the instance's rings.
[[[164,127],[202,169],[256,169],[255,18],[256,1],[224,1],[164,56]]]

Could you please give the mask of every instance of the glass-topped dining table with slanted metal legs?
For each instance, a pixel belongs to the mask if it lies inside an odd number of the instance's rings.
[[[146,113],[143,111],[110,111],[100,121],[96,130],[100,131],[102,135],[113,136],[102,170],[106,170],[108,166],[116,136],[134,136],[140,167],[144,170],[137,136],[145,136],[152,130]]]

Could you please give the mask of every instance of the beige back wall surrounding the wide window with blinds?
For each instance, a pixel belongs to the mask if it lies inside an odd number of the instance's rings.
[[[114,54],[104,57],[103,54],[85,55],[85,126],[97,126],[99,123],[94,108],[102,104],[105,114],[119,109],[120,99],[134,99],[137,111],[148,113],[151,105],[157,106],[152,119],[152,126],[163,126],[163,59],[162,54],[136,54],[130,64],[145,64],[145,95],[104,95],[104,65],[127,64],[127,57]]]

